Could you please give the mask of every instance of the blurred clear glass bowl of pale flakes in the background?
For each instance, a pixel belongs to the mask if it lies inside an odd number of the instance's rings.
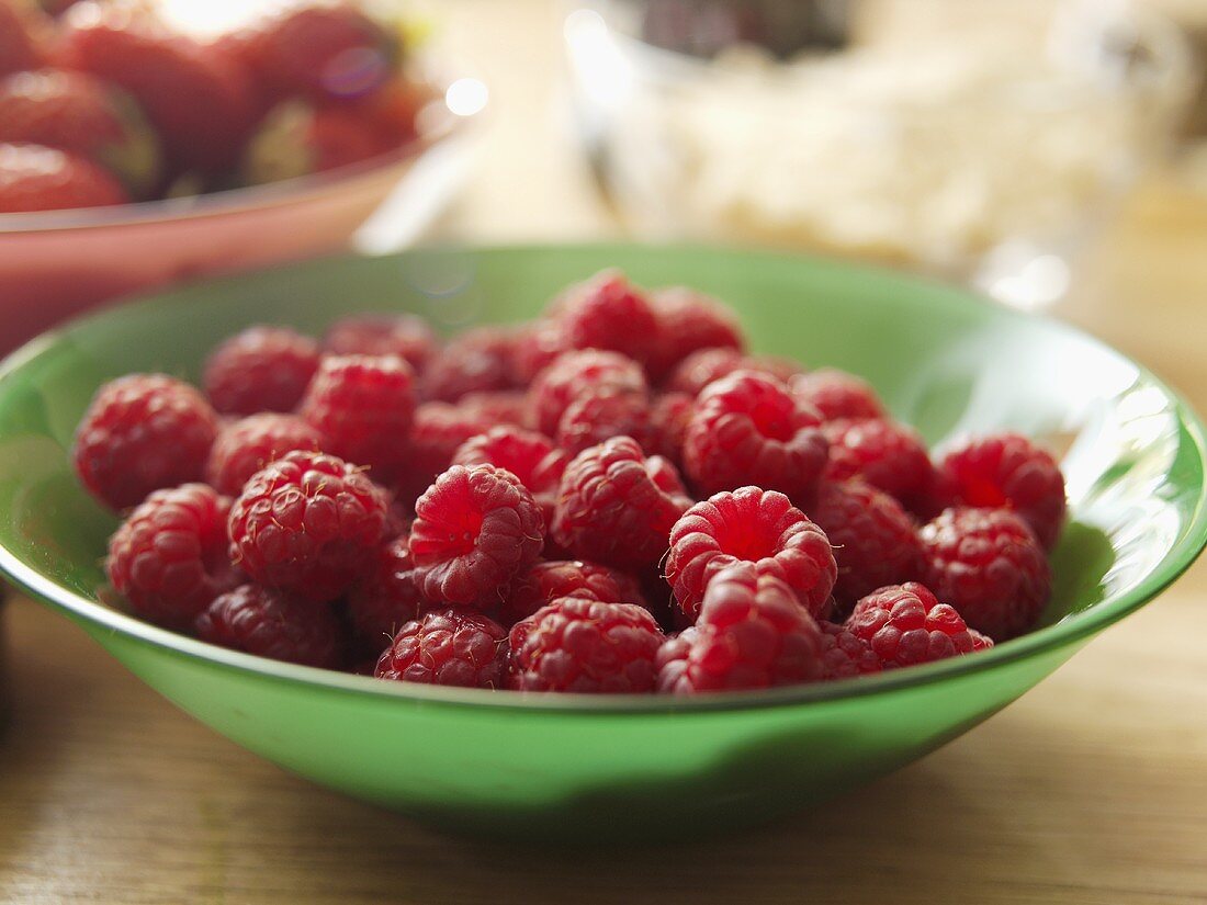
[[[807,249],[1062,296],[1167,147],[1182,34],[1121,2],[612,0],[565,23],[576,124],[652,239]]]

